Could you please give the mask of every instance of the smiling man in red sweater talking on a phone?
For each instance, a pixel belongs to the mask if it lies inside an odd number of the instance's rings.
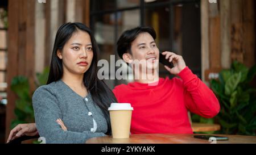
[[[156,33],[150,27],[137,27],[122,33],[117,42],[118,55],[132,64],[135,80],[116,86],[113,93],[119,103],[131,103],[134,107],[131,133],[193,133],[188,111],[213,118],[220,111],[220,104],[212,90],[175,53],[163,52],[174,64],[174,68],[164,67],[180,78],[159,78],[160,53],[155,39]],[[139,68],[135,67],[136,62],[142,62]],[[63,122],[59,124],[64,126]],[[8,141],[20,135],[36,135],[35,123],[17,125]]]

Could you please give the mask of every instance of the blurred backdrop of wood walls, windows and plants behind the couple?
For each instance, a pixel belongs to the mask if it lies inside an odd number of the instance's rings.
[[[209,133],[255,135],[255,6],[253,0],[1,0],[0,143],[16,124],[34,122],[32,93],[46,83],[57,28],[65,22],[90,27],[100,59],[109,62],[110,55],[119,59],[115,43],[123,31],[154,27],[160,51],[182,55],[220,101],[216,118],[191,114],[192,122],[220,125]],[[162,65],[159,70],[172,78]],[[113,89],[130,81],[105,82]]]

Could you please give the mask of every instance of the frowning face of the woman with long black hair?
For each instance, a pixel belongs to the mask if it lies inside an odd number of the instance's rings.
[[[62,59],[63,73],[84,74],[92,63],[93,48],[90,35],[85,31],[77,31],[67,41],[63,51],[57,51]]]

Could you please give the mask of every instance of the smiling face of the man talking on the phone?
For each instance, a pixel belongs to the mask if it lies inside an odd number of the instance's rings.
[[[158,68],[159,49],[150,33],[140,33],[131,43],[131,55],[133,61],[143,62],[147,69]]]

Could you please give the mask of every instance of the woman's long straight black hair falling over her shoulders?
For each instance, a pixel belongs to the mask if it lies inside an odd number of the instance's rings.
[[[86,89],[90,92],[94,103],[101,108],[106,121],[108,123],[108,132],[106,134],[111,134],[111,125],[110,125],[110,117],[108,112],[108,107],[110,103],[117,102],[112,90],[100,79],[97,78],[97,62],[98,62],[98,46],[92,31],[86,27],[82,23],[65,23],[60,26],[57,31],[53,51],[52,51],[52,59],[51,66],[49,70],[49,76],[47,84],[51,82],[56,82],[63,77],[63,64],[62,60],[57,57],[57,50],[62,51],[65,43],[71,38],[73,33],[77,31],[84,31],[90,35],[90,40],[92,41],[93,48],[93,59],[90,68],[84,73],[84,85]]]

